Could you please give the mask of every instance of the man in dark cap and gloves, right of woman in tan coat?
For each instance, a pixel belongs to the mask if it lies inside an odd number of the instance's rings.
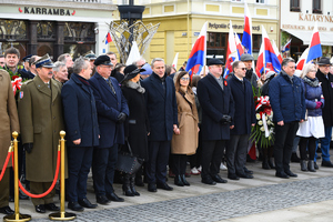
[[[234,114],[231,89],[222,78],[222,61],[208,62],[209,74],[198,82],[198,98],[202,108],[202,172],[201,181],[214,185],[226,183],[220,178],[220,164],[225,141],[230,139],[231,120]]]

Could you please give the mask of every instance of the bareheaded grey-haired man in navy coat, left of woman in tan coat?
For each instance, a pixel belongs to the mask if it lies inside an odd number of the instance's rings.
[[[167,184],[165,176],[172,134],[179,133],[179,128],[174,83],[165,74],[164,60],[153,59],[151,68],[153,73],[142,81],[142,87],[145,89],[150,121],[148,191],[157,192],[157,185],[159,189],[173,190]]]

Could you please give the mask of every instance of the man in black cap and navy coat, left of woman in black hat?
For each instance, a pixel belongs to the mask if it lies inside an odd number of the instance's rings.
[[[94,65],[97,73],[89,80],[89,83],[95,99],[100,144],[93,150],[92,174],[97,202],[108,204],[110,201],[123,201],[114,193],[113,178],[118,145],[124,143],[123,122],[129,115],[129,107],[119,82],[110,77],[113,65],[110,58],[102,54],[97,58]]]

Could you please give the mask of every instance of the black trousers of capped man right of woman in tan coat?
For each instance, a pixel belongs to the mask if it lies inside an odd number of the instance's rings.
[[[225,140],[205,140],[202,142],[201,178],[208,178],[220,172],[224,147]]]

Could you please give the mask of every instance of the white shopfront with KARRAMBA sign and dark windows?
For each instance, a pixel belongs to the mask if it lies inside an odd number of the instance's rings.
[[[112,0],[0,0],[0,53],[101,54],[114,10]]]

